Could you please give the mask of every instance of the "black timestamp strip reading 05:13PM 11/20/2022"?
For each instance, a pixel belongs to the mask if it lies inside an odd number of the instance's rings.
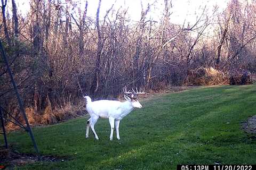
[[[177,165],[177,170],[256,170],[256,165]]]

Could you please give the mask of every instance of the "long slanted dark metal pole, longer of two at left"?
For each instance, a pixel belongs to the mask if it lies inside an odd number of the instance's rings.
[[[34,138],[34,135],[33,135],[33,132],[32,132],[32,130],[31,130],[31,128],[30,128],[30,125],[29,125],[29,122],[28,122],[28,119],[27,119],[27,116],[26,116],[26,112],[25,112],[25,109],[24,109],[24,107],[23,107],[22,100],[21,100],[20,95],[19,95],[19,92],[18,92],[17,85],[16,85],[16,83],[15,83],[15,81],[14,81],[14,79],[13,79],[12,71],[11,71],[11,69],[10,69],[9,62],[8,62],[8,60],[7,60],[7,58],[6,58],[6,54],[5,54],[4,47],[3,47],[3,45],[2,45],[2,41],[1,41],[1,40],[0,40],[0,48],[1,48],[1,52],[2,52],[2,56],[3,56],[4,62],[5,62],[6,67],[7,67],[7,71],[8,71],[8,73],[9,73],[9,75],[10,75],[10,78],[11,78],[11,82],[12,82],[12,85],[13,85],[13,88],[14,88],[14,91],[15,91],[15,94],[16,94],[17,99],[18,99],[18,102],[19,102],[20,111],[21,111],[21,113],[23,114],[23,117],[24,117],[25,122],[26,122],[26,124],[27,124],[26,130],[28,131],[28,133],[29,133],[29,135],[30,135],[30,138],[31,138],[31,140],[32,140],[32,142],[33,142],[33,145],[34,145],[34,148],[35,148],[36,152],[39,153],[38,148],[37,148],[37,145],[36,145],[36,141],[35,141],[35,138]]]

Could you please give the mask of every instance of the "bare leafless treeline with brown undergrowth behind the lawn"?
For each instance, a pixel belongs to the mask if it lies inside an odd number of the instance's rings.
[[[231,0],[221,12],[202,10],[186,25],[171,23],[172,2],[163,1],[159,21],[149,18],[153,4],[148,4],[134,23],[125,7],[116,10],[113,4],[101,11],[101,0],[95,18],[87,16],[87,1],[80,6],[72,0],[34,0],[24,18],[15,0],[1,0],[0,37],[30,122],[72,117],[82,109],[84,94],[117,97],[125,85],[162,90],[239,84],[237,77],[244,76],[250,82],[247,75],[256,71],[254,1]],[[2,58],[0,64],[1,106],[18,117]]]

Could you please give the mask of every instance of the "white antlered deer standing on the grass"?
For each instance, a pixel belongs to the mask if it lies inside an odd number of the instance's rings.
[[[134,108],[142,108],[137,95],[145,94],[142,92],[141,89],[136,91],[132,89],[132,91],[127,91],[126,87],[123,88],[124,98],[126,101],[115,101],[115,100],[98,100],[92,101],[89,96],[84,96],[86,99],[86,110],[91,116],[87,121],[87,128],[86,128],[86,138],[89,137],[89,129],[91,127],[92,132],[94,134],[95,139],[99,139],[97,133],[94,130],[94,125],[97,123],[98,119],[101,118],[108,118],[109,124],[111,127],[110,132],[110,140],[113,140],[113,131],[114,126],[116,127],[116,137],[120,140],[119,137],[119,123],[126,116],[129,114]]]

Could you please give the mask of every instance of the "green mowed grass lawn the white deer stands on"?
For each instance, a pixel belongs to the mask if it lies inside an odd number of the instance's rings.
[[[85,139],[88,116],[34,128],[42,154],[71,159],[17,169],[175,169],[177,164],[256,164],[256,139],[241,129],[241,122],[256,115],[255,104],[256,85],[201,87],[142,102],[142,109],[121,121],[119,141],[115,133],[114,140],[109,141],[108,120],[95,125],[99,141],[94,140],[91,131]],[[25,132],[10,133],[8,139],[20,152],[34,152]]]

